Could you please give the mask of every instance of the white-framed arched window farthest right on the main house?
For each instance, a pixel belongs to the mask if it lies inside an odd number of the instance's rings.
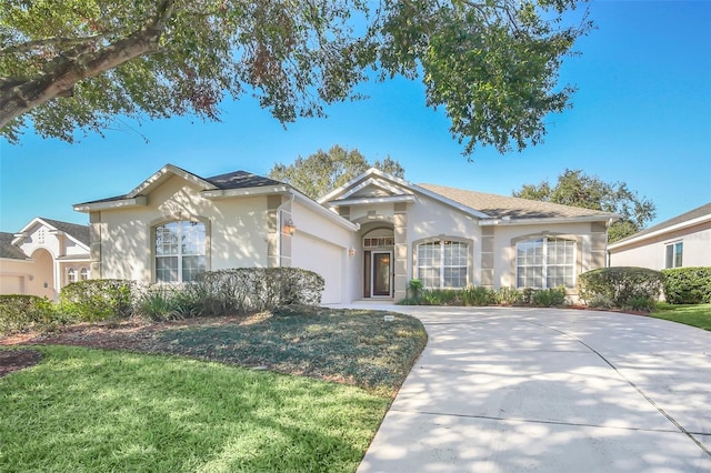
[[[574,288],[575,242],[555,238],[525,240],[515,245],[517,288]]]

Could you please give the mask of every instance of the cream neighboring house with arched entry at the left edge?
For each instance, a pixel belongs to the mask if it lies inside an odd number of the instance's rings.
[[[36,218],[18,233],[0,233],[0,294],[53,300],[89,278],[88,225]]]

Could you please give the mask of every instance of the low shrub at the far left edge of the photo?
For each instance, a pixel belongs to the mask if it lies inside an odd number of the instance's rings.
[[[0,295],[0,333],[51,328],[64,321],[47,298],[24,294]]]

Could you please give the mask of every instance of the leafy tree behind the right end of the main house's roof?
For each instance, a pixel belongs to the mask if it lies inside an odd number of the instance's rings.
[[[548,180],[540,184],[524,184],[513,197],[613,212],[622,218],[609,230],[610,242],[621,240],[644,229],[657,215],[657,205],[638,197],[624,182],[604,182],[582,170],[565,169],[555,185]]]

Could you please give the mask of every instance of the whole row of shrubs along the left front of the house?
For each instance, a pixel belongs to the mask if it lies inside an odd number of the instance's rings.
[[[0,295],[0,333],[133,315],[168,320],[284,311],[320,304],[323,288],[323,278],[298,268],[212,271],[180,286],[88,280],[64,286],[58,303],[34,295]]]

